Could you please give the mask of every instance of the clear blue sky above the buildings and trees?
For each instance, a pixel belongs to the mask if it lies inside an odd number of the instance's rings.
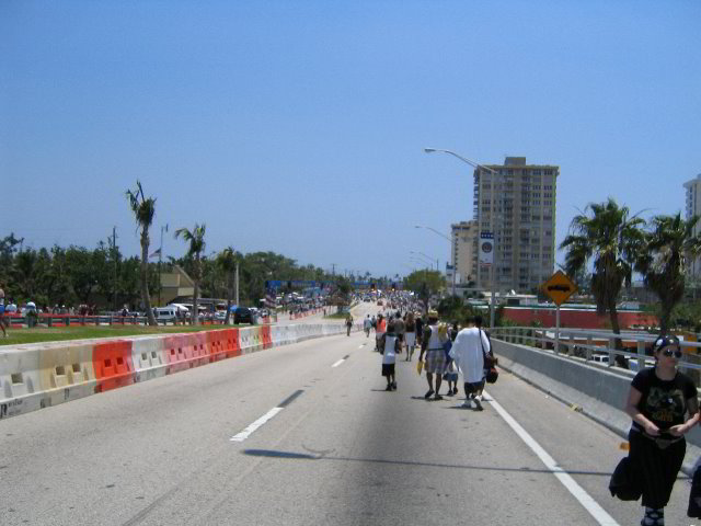
[[[424,147],[560,165],[558,242],[608,196],[674,214],[701,173],[700,23],[691,0],[4,0],[0,236],[116,226],[137,254],[138,179],[166,254],[205,222],[208,251],[406,274],[449,258],[414,225],[472,217],[472,169]]]

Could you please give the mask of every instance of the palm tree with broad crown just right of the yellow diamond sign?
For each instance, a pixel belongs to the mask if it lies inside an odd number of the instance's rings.
[[[644,240],[645,221],[637,215],[629,218],[629,214],[627,206],[618,206],[611,197],[606,203],[590,203],[572,219],[570,233],[560,244],[560,249],[567,249],[565,271],[571,276],[594,259],[591,294],[596,310],[599,315],[608,312],[616,334],[621,333],[616,304],[623,284],[631,284],[633,263]],[[620,338],[616,346],[622,347]]]

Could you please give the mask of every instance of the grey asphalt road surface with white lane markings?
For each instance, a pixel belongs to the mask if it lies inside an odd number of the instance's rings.
[[[0,524],[640,523],[607,489],[611,432],[505,373],[483,412],[425,401],[403,355],[387,392],[371,348],[311,340],[0,421]],[[693,524],[688,492],[668,525]]]

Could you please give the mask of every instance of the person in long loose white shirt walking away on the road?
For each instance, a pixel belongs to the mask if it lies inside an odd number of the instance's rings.
[[[452,342],[450,357],[462,373],[466,399],[464,409],[471,409],[474,401],[475,409],[482,411],[482,401],[476,393],[484,389],[484,354],[491,351],[490,341],[482,330],[482,317],[475,316],[471,320],[473,327],[458,332]]]

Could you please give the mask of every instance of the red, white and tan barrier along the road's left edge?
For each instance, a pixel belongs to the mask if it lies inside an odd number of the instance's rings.
[[[355,328],[357,330],[357,328]],[[341,323],[265,325],[0,351],[0,419],[264,348],[341,334]]]

